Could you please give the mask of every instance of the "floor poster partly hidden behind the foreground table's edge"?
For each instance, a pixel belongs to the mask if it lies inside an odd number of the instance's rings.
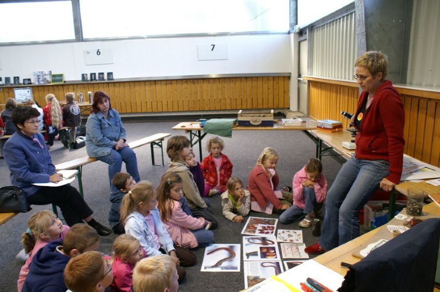
[[[252,261],[243,262],[244,267],[244,287],[254,286],[271,276],[283,272],[281,261]]]

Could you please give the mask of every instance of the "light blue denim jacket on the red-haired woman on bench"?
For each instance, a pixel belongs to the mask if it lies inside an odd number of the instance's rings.
[[[103,157],[110,154],[117,141],[126,140],[121,117],[115,110],[109,110],[109,119],[101,112],[92,112],[86,124],[86,150],[89,157]]]

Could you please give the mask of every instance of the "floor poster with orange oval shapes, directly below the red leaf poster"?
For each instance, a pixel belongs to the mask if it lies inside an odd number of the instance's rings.
[[[243,236],[243,261],[281,260],[275,236]]]

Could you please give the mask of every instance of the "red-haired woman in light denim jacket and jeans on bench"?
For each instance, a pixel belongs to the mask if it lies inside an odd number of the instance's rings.
[[[86,124],[86,150],[89,157],[109,164],[110,201],[119,193],[111,179],[121,171],[122,161],[133,180],[139,182],[136,154],[127,144],[121,117],[111,108],[110,96],[104,91],[93,94]]]

